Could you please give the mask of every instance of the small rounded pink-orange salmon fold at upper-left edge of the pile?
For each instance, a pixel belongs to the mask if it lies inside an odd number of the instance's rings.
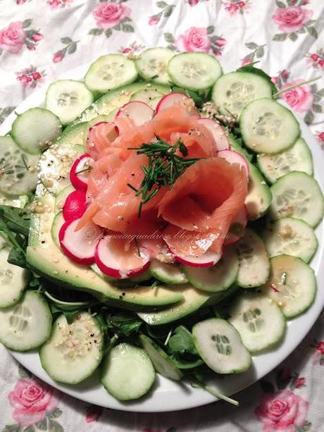
[[[111,147],[118,137],[118,128],[110,121],[99,121],[89,128],[86,149],[94,159],[99,159],[102,152]]]

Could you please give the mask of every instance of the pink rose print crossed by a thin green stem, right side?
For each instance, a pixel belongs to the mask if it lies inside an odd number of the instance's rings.
[[[303,82],[303,80],[286,82],[284,85],[282,85],[280,91],[301,82]],[[282,93],[281,97],[282,99],[285,99],[287,104],[292,109],[294,109],[294,111],[297,111],[297,113],[304,113],[305,111],[309,111],[313,105],[314,100],[313,92],[310,85],[303,85],[301,87],[295,87],[292,90],[287,90],[287,92]]]

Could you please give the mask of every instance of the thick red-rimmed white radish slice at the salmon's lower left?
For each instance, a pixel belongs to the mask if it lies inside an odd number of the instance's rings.
[[[94,251],[102,235],[102,230],[98,225],[88,223],[80,230],[75,231],[79,221],[80,218],[63,223],[58,233],[58,240],[66,257],[77,264],[88,266],[94,263]]]

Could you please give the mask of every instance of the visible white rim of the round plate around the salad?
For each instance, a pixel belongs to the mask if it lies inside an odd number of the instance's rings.
[[[70,70],[60,78],[81,79],[88,66],[89,65],[84,65]],[[46,88],[37,90],[37,92],[31,94],[30,97],[27,97],[27,99],[25,99],[25,101],[15,109],[15,111],[21,113],[34,106],[43,106],[45,92]],[[4,135],[6,132],[11,130],[11,124],[14,119],[14,113],[8,116],[6,121],[0,127],[0,135]],[[315,138],[311,135],[309,128],[307,128],[303,121],[299,120],[299,123],[301,125],[302,136],[311,148],[315,178],[320,183],[322,190],[324,190],[323,154]],[[311,262],[311,266],[316,272],[316,278],[320,288],[320,281],[324,280],[323,223],[321,223],[316,229],[316,235],[318,237],[319,247],[316,256]],[[299,342],[301,342],[313,326],[313,323],[318,318],[323,307],[324,290],[318,289],[316,301],[311,308],[297,319],[287,322],[285,340],[283,340],[280,346],[272,352],[254,356],[253,366],[245,374],[228,376],[223,379],[216,378],[211,381],[211,383],[225,395],[233,395],[268,374],[268,372],[278,366],[278,364],[280,364],[280,362],[282,362],[282,360],[284,360],[294,350],[294,348],[297,347]],[[135,412],[163,412],[198,407],[215,401],[215,397],[206,393],[204,390],[191,388],[190,385],[175,383],[174,381],[158,376],[155,388],[149,395],[147,395],[147,397],[135,402],[122,403],[118,402],[118,400],[106,393],[106,390],[104,390],[99,383],[99,377],[97,374],[80,385],[61,385],[51,380],[51,378],[49,378],[46,372],[42,369],[37,352],[11,352],[11,354],[18,360],[18,362],[30,370],[32,374],[38,376],[46,383],[53,385],[64,393],[68,393],[68,395],[95,405],[101,405],[102,407]]]

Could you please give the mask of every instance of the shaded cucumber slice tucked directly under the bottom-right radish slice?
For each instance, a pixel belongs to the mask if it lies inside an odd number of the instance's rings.
[[[183,267],[185,274],[194,288],[199,290],[219,292],[227,290],[235,283],[239,271],[237,252],[232,247],[226,247],[222,258],[212,267]]]

